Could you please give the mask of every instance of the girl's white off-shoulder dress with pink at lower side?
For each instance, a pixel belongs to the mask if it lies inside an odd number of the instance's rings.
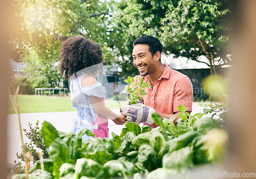
[[[77,134],[82,129],[87,128],[94,132],[97,137],[109,137],[108,118],[97,115],[90,98],[91,95],[100,97],[104,103],[106,89],[99,82],[82,88],[82,78],[86,75],[80,75],[75,80],[70,80],[72,107],[77,110],[77,117],[74,119],[75,124],[72,127],[72,132]],[[82,136],[83,140],[92,138],[87,135]]]

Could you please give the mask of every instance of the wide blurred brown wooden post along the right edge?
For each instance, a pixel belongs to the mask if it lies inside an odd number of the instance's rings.
[[[229,147],[230,172],[256,172],[256,1],[232,1],[232,69],[230,85]],[[254,178],[255,176],[246,177]],[[240,177],[242,178],[242,177]]]

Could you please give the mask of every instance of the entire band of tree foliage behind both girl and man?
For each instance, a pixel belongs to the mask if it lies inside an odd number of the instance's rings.
[[[144,35],[162,42],[163,53],[216,65],[230,62],[227,49],[229,1],[223,0],[17,0],[20,23],[13,45],[41,86],[59,84],[60,43],[80,35],[100,44],[105,64],[119,63],[123,74],[137,73],[132,43]],[[208,61],[202,61],[205,56]],[[35,83],[35,86],[38,86]]]

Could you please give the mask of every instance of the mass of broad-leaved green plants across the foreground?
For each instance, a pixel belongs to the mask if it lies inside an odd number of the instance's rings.
[[[33,178],[154,178],[159,173],[175,175],[202,164],[220,164],[225,154],[227,134],[219,120],[194,116],[180,106],[177,126],[173,118],[153,114],[160,127],[140,127],[127,122],[118,136],[82,141],[81,136],[95,136],[89,130],[74,133],[58,132],[44,122],[42,137],[49,159],[38,160],[28,174]],[[188,119],[186,118],[188,116]],[[183,121],[182,121],[183,120]],[[44,170],[41,170],[44,163]],[[16,174],[11,178],[25,178]]]

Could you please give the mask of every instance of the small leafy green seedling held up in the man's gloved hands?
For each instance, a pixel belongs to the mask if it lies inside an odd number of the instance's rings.
[[[132,78],[131,76],[128,76],[127,80],[124,80],[128,84],[126,86],[126,90],[127,90],[127,93],[129,94],[131,105],[139,103],[139,100],[141,97],[138,94],[142,96],[147,94],[143,88],[151,87],[151,85],[148,85],[147,82],[143,82],[143,78],[139,78],[139,76],[137,76],[137,78],[139,79],[139,82],[136,84],[133,84],[134,78]]]

